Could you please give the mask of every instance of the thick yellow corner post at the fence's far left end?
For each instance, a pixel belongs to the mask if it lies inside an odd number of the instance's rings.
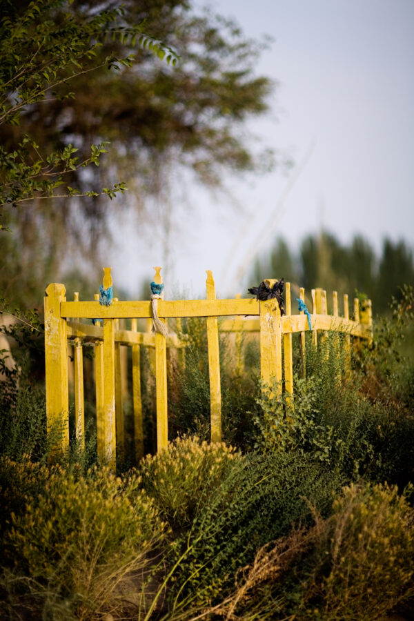
[[[59,437],[52,453],[64,451],[69,445],[68,342],[66,321],[61,318],[65,293],[63,284],[53,283],[46,288],[44,300],[46,417],[48,433]]]

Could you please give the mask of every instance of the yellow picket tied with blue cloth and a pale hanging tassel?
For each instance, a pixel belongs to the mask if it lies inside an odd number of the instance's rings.
[[[162,284],[161,267],[155,268],[154,282]],[[160,316],[160,304],[158,313]],[[162,316],[162,314],[161,314]],[[161,319],[163,321],[163,319]],[[167,394],[167,342],[160,333],[155,334],[155,392],[157,395],[157,451],[168,448],[168,394]]]

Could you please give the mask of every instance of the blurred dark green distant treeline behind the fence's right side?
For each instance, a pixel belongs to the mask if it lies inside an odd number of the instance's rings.
[[[384,239],[378,256],[361,235],[344,245],[326,232],[308,235],[292,249],[279,237],[270,253],[257,259],[249,282],[272,277],[284,277],[308,290],[322,287],[349,295],[357,290],[372,299],[374,314],[383,313],[391,297],[399,296],[400,286],[414,285],[413,250],[402,240]]]

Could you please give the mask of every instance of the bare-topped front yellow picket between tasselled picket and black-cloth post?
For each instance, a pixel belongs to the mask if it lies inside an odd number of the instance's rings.
[[[206,271],[207,299],[215,299],[213,272]],[[221,442],[221,378],[219,354],[219,328],[217,317],[207,317],[208,373],[210,377],[211,442]]]

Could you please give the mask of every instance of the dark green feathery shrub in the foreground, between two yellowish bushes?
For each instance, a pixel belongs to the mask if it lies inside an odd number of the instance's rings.
[[[323,465],[297,452],[235,460],[175,542],[176,558],[184,558],[170,589],[172,609],[186,598],[200,605],[217,600],[260,546],[311,519],[306,498],[326,514],[340,486]]]

